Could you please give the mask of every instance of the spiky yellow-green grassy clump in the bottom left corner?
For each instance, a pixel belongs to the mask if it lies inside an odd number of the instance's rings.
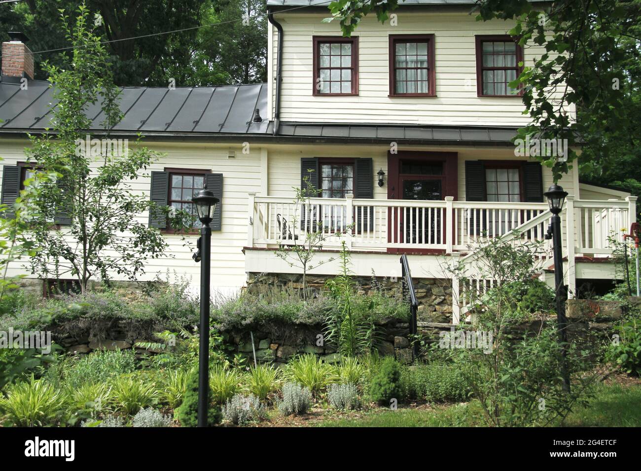
[[[60,390],[33,375],[29,381],[15,384],[6,398],[0,397],[3,419],[19,427],[55,425],[66,406],[66,397]]]

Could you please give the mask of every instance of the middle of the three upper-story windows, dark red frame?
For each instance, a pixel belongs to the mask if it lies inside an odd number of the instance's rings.
[[[434,35],[390,35],[390,96],[436,95]]]

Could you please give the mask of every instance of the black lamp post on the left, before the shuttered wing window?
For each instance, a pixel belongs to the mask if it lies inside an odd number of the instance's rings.
[[[209,227],[218,198],[206,187],[192,198],[202,224],[195,261],[201,261],[201,317],[198,349],[198,426],[207,426],[209,406],[209,281],[212,248],[212,228]]]

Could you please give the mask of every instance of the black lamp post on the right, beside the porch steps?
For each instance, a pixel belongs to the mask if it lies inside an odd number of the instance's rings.
[[[563,209],[563,201],[567,196],[567,192],[563,191],[562,186],[552,185],[544,193],[547,197],[547,204],[550,206],[552,213],[552,221],[547,228],[546,239],[552,239],[552,247],[554,250],[554,293],[556,301],[556,324],[559,333],[559,341],[561,342],[561,377],[563,378],[563,390],[570,392],[570,374],[567,369],[567,317],[565,317],[565,299],[567,293],[565,292],[565,285],[563,284],[563,245],[561,240],[561,217],[560,213]]]

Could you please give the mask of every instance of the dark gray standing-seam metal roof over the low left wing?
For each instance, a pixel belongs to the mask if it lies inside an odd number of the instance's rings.
[[[30,80],[26,90],[19,83],[0,83],[0,131],[43,131],[52,128],[53,88],[49,82]],[[124,117],[114,131],[147,133],[265,134],[268,132],[267,86],[122,88]],[[253,122],[254,110],[262,122]],[[104,131],[99,103],[87,107],[90,131]]]

